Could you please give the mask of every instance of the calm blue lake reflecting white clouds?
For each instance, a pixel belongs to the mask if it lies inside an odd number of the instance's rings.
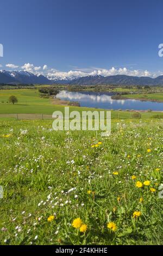
[[[61,100],[78,101],[81,107],[94,107],[103,109],[135,109],[163,111],[163,102],[140,100],[112,100],[115,93],[96,92],[67,92],[60,91],[57,97]]]

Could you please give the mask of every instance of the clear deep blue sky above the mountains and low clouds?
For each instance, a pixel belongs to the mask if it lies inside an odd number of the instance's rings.
[[[0,8],[1,69],[163,74],[162,0],[1,0]]]

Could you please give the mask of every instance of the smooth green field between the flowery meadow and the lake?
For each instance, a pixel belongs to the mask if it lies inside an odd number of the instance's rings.
[[[7,103],[9,96],[15,95],[18,103],[12,105]],[[149,94],[151,95],[151,94]],[[126,96],[126,95],[125,95]],[[135,96],[135,95],[131,95]],[[4,102],[4,103],[2,103]],[[64,113],[64,107],[61,105],[53,105],[52,99],[43,99],[39,96],[37,89],[14,89],[14,90],[0,90],[0,114],[48,114],[52,116],[54,111],[61,111]],[[73,107],[70,106],[71,111],[88,111],[90,108],[86,107]],[[101,109],[91,108],[91,110],[101,111]],[[162,114],[160,112],[147,113],[142,112],[141,118],[152,118],[153,116]],[[111,118],[127,119],[132,118],[133,113],[129,111],[111,111]],[[7,117],[7,116],[6,116]],[[41,117],[41,115],[40,115]],[[2,118],[2,117],[1,117]],[[16,118],[16,117],[15,117]],[[21,119],[21,116],[20,116]],[[32,118],[33,119],[33,118]]]

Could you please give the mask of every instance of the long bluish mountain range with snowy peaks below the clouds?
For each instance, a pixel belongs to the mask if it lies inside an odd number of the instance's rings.
[[[77,84],[77,85],[122,85],[122,86],[163,86],[163,76],[156,78],[137,77],[126,75],[115,76],[84,76],[74,79],[55,78],[48,79],[43,75],[34,75],[28,71],[5,71],[0,70],[0,83],[7,84]]]

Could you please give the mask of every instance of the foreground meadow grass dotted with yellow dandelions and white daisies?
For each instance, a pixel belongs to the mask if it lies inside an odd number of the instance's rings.
[[[162,245],[162,127],[114,119],[101,137],[53,131],[51,120],[1,121],[1,245]],[[85,233],[72,226],[78,217]]]

